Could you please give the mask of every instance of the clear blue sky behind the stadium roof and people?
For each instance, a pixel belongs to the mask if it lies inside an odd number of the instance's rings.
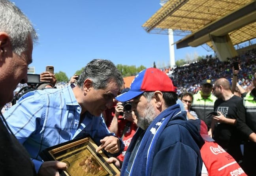
[[[152,67],[169,63],[167,35],[148,34],[141,27],[158,9],[160,0],[11,0],[32,21],[39,34],[34,46],[36,74],[55,67],[70,78],[94,58],[115,65]],[[177,41],[180,37],[174,37]],[[186,55],[213,54],[203,47],[176,49]]]

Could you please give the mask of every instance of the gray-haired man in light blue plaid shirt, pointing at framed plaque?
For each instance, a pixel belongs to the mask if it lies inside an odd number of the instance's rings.
[[[122,84],[122,75],[111,61],[92,60],[73,89],[28,92],[6,112],[6,121],[31,155],[38,175],[55,175],[63,168],[59,161],[43,162],[42,150],[77,137],[90,135],[99,146],[97,152],[122,152],[122,140],[108,131],[100,116],[112,107]]]

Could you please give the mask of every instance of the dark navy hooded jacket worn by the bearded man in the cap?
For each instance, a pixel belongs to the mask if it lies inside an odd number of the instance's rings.
[[[165,112],[167,110],[167,112]],[[163,127],[161,133],[156,139],[151,140],[147,136],[151,126],[147,129],[141,143],[155,142],[155,146],[149,150],[147,145],[139,148],[132,165],[130,175],[152,175],[152,176],[200,176],[202,159],[200,148],[204,144],[198,129],[193,122],[186,120],[186,112],[180,112],[179,105],[174,105],[164,110],[159,116],[173,116],[173,111],[179,110],[179,114],[173,118],[169,118]],[[176,114],[176,112],[175,112]],[[167,115],[167,116],[166,116]],[[156,117],[158,118],[158,117]],[[160,117],[162,118],[162,117]],[[159,118],[158,118],[159,119]],[[156,119],[155,119],[156,120]],[[156,123],[155,120],[152,123]],[[160,127],[159,127],[160,128]],[[127,175],[127,164],[130,154],[134,148],[139,134],[143,133],[142,129],[138,129],[134,135],[128,150],[126,151],[124,163],[122,165],[121,176]],[[147,136],[147,139],[145,139]],[[141,147],[141,146],[140,146]],[[142,151],[142,152],[141,152]],[[152,153],[152,156],[150,156]],[[152,158],[151,159],[149,158]]]

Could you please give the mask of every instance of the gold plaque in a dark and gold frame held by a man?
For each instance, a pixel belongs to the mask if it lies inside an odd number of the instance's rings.
[[[120,170],[107,163],[107,156],[100,151],[90,137],[79,138],[43,150],[43,161],[61,161],[68,168],[60,170],[61,176],[120,176]]]

